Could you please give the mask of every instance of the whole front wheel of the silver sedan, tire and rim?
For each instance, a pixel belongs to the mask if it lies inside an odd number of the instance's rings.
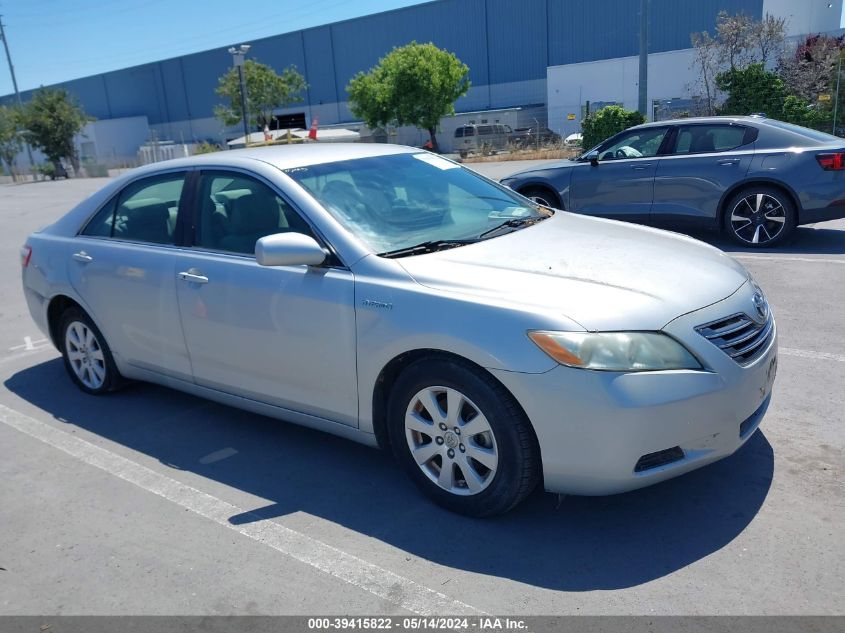
[[[414,363],[394,383],[388,416],[398,461],[453,512],[507,512],[539,480],[539,450],[525,414],[501,384],[469,364]]]

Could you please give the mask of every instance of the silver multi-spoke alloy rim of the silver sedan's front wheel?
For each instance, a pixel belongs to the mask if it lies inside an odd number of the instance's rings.
[[[475,495],[496,475],[499,453],[481,410],[450,387],[426,387],[408,404],[405,438],[420,470],[440,488]]]

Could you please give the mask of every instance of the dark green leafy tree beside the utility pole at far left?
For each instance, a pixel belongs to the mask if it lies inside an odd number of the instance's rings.
[[[27,140],[44,153],[56,173],[63,171],[61,161],[67,158],[79,174],[73,138],[94,119],[74,97],[65,90],[41,88],[24,104],[20,119]]]

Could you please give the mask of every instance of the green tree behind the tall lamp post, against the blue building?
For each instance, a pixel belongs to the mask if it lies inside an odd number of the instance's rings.
[[[265,125],[272,127],[273,111],[302,101],[301,93],[308,87],[296,66],[288,66],[279,75],[270,66],[252,59],[244,63],[244,80],[249,123],[250,126],[259,128]],[[228,101],[228,105],[216,106],[215,116],[223,125],[237,125],[243,120],[241,83],[237,68],[230,68],[220,77],[216,92]]]

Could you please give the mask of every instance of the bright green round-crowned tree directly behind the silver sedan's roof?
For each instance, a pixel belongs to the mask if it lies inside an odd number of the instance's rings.
[[[355,75],[346,91],[352,113],[369,127],[414,125],[428,131],[438,151],[437,125],[455,113],[455,101],[469,87],[469,68],[454,54],[411,42]]]

